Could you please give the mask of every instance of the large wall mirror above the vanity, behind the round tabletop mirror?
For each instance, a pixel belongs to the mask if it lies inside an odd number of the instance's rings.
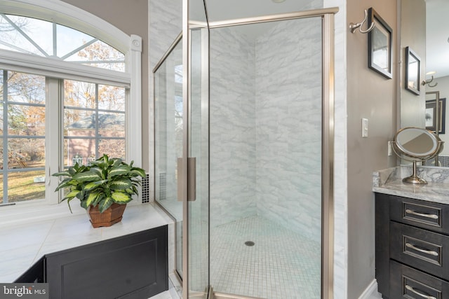
[[[398,130],[421,127],[438,134],[446,146],[436,157],[436,162],[429,160],[424,165],[449,167],[449,134],[445,134],[446,121],[449,121],[445,118],[448,113],[445,99],[449,97],[449,43],[446,30],[449,28],[449,1],[397,1],[401,15],[401,22],[398,22],[400,46],[396,50],[401,62],[398,67],[401,74],[397,78],[400,98]],[[406,74],[410,75],[410,66],[406,64],[407,47],[420,57],[420,78],[410,80],[413,85],[406,84],[409,81],[409,78],[406,81]],[[416,82],[420,88],[419,95],[410,90]]]

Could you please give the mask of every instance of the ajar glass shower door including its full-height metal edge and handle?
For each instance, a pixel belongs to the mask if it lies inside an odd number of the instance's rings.
[[[184,1],[185,275],[182,298],[211,298],[209,283],[208,25],[203,0]],[[186,275],[187,274],[187,275]]]

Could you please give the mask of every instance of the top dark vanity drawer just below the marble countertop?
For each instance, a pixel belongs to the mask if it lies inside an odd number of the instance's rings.
[[[391,220],[449,234],[449,205],[390,195]]]

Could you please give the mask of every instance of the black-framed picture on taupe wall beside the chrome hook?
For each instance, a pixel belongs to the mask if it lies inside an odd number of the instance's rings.
[[[368,24],[374,22],[368,32],[368,67],[385,78],[393,78],[391,71],[392,29],[371,7],[368,9]]]

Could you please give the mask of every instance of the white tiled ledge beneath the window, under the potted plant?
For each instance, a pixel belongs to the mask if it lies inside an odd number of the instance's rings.
[[[76,204],[71,204],[72,209]],[[63,207],[61,207],[63,206]],[[93,228],[86,211],[70,214],[59,204],[53,216],[17,217],[14,206],[0,210],[0,282],[12,282],[46,253],[91,244],[170,223],[153,204],[128,204],[123,219],[108,228]],[[62,211],[63,209],[63,211]],[[26,209],[25,209],[26,210]],[[29,209],[33,210],[33,209]],[[20,212],[23,215],[24,210]],[[34,211],[35,213],[36,211]]]

